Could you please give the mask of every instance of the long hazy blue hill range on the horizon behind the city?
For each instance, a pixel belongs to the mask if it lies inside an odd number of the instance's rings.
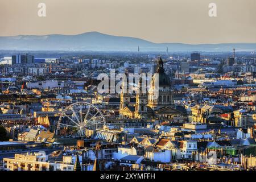
[[[153,43],[139,38],[113,36],[100,32],[79,35],[0,36],[0,50],[20,51],[254,51],[256,43],[182,44]]]

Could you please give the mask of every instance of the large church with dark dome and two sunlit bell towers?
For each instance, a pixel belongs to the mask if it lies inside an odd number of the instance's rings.
[[[156,81],[158,81],[158,84],[155,84]],[[128,85],[127,82],[125,84]],[[155,85],[158,86],[155,87]],[[127,94],[129,93],[128,90],[126,92],[122,90],[119,106],[120,118],[170,119],[173,115],[183,114],[179,110],[174,109],[174,96],[171,81],[164,72],[161,57],[157,62],[156,74],[152,77],[150,88],[147,90],[146,94],[141,92],[141,87],[142,79],[140,78],[135,105],[130,105],[131,96]],[[125,86],[122,86],[122,89],[123,88],[125,88]]]

